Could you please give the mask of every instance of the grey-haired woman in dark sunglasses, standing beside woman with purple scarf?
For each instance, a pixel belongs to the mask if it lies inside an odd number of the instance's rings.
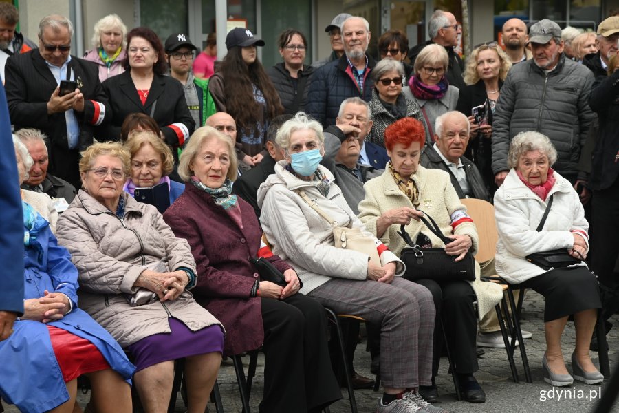
[[[402,94],[402,80],[406,79],[402,62],[382,59],[376,63],[370,76],[374,81],[369,102],[373,126],[368,140],[384,148],[384,129],[389,125],[406,116],[423,120],[417,101]]]

